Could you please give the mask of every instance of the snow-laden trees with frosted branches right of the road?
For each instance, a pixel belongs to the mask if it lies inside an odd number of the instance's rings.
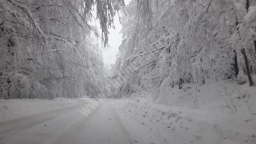
[[[252,0],[130,2],[122,14],[124,41],[114,67],[114,75],[119,69],[129,75],[119,94],[224,79],[253,85],[255,13]]]

